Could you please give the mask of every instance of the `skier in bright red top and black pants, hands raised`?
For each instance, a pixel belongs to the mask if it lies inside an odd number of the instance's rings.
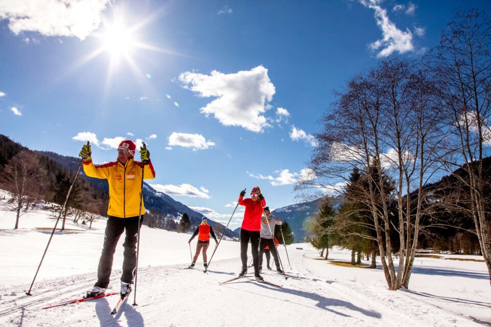
[[[245,191],[240,192],[238,202],[245,206],[244,220],[240,228],[240,259],[242,260],[242,270],[239,276],[247,273],[247,247],[251,241],[251,252],[254,265],[254,276],[257,281],[264,279],[259,274],[259,239],[261,238],[261,218],[263,207],[266,201],[261,194],[259,186],[254,186],[251,190],[251,198],[244,199]]]

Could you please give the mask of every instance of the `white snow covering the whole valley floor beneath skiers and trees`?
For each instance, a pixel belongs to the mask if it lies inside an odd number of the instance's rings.
[[[95,222],[91,230],[67,222],[70,230],[55,233],[32,296],[26,296],[55,223],[47,217],[43,211],[28,213],[21,217],[19,229],[13,230],[15,214],[0,209],[1,326],[491,325],[485,264],[448,260],[482,257],[417,258],[410,290],[388,291],[381,269],[333,265],[316,260],[321,258],[310,245],[293,244],[287,247],[291,268],[284,248],[279,248],[289,279],[263,271],[266,281],[281,288],[247,278],[220,285],[240,270],[239,243],[222,241],[207,274],[201,269],[181,270],[177,268],[191,261],[190,235],[147,226],[140,243],[137,307],[131,306],[131,294],[116,316],[110,311],[117,296],[43,310],[82,296],[94,284],[105,227],[104,220]],[[119,291],[121,244],[122,239],[108,291]],[[349,258],[344,250],[329,252],[329,259]],[[252,268],[249,272],[252,276]]]

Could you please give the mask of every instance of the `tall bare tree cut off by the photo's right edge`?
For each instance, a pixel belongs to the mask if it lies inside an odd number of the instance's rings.
[[[490,185],[483,170],[491,145],[491,20],[471,9],[456,12],[448,27],[426,59],[437,76],[453,136],[452,160],[445,167],[448,172],[465,172],[453,174],[466,186],[455,204],[474,221],[491,283]]]

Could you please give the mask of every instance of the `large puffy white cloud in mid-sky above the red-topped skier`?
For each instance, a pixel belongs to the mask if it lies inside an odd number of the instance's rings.
[[[185,72],[179,79],[185,88],[198,96],[216,98],[200,111],[207,116],[213,114],[221,124],[240,126],[257,133],[271,126],[263,113],[271,108],[269,102],[276,90],[263,66],[235,74]]]

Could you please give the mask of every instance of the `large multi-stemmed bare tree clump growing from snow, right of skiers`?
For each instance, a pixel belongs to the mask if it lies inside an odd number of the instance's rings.
[[[373,228],[375,236],[357,234],[377,242],[391,290],[409,285],[419,219],[431,206],[421,186],[434,177],[442,156],[441,110],[430,86],[423,71],[398,60],[383,61],[366,76],[351,79],[322,120],[311,179],[297,185],[302,190],[344,192],[351,171],[360,170],[361,193],[351,199],[344,195],[347,201],[364,202],[371,222],[355,223]],[[418,188],[416,198],[409,196]],[[389,206],[396,208],[396,217]],[[360,211],[360,206],[354,208]],[[397,250],[396,270],[392,254]]]

